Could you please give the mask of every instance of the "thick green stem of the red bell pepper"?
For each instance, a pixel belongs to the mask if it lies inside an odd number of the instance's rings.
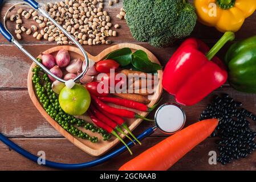
[[[235,34],[233,32],[225,32],[222,38],[213,46],[212,49],[206,54],[206,57],[209,60],[212,60],[217,52],[229,41],[233,41],[235,39]]]

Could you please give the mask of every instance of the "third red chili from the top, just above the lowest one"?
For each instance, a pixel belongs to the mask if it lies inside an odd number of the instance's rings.
[[[103,113],[101,113],[99,110],[97,110],[97,108],[94,105],[91,104],[90,110],[92,111],[92,113],[95,114],[96,118],[100,119],[100,121],[104,122],[105,124],[112,127],[113,129],[116,129],[117,131],[119,131],[121,134],[125,135],[125,137],[127,137],[129,140],[131,140],[133,142],[133,140],[127,134],[124,133],[124,131],[117,125],[117,123],[113,122],[110,118],[108,118]],[[135,142],[133,142],[133,143],[136,144]]]

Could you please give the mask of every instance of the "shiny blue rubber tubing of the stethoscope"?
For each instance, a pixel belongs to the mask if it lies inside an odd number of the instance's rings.
[[[32,7],[35,9],[38,9],[39,4],[35,2],[34,0],[24,0],[25,2],[29,3]],[[0,10],[2,6],[3,0],[0,0]],[[1,34],[9,41],[12,42],[12,35],[5,29],[3,24],[0,22],[0,32]],[[155,127],[149,127],[147,130],[145,130],[143,133],[141,133],[137,139],[142,140],[145,137],[148,137],[155,131]],[[7,146],[9,146],[11,149],[14,151],[18,152],[19,154],[25,156],[27,159],[32,160],[35,163],[38,163],[38,156],[32,155],[30,152],[24,150],[23,148],[19,147],[17,144],[6,138],[2,133],[0,133],[0,140],[5,143]],[[133,142],[136,142],[135,140]],[[133,146],[133,142],[127,143],[129,147]],[[86,162],[86,163],[78,163],[78,164],[64,164],[64,163],[56,163],[56,162],[51,162],[49,160],[46,160],[45,166],[47,167],[52,167],[52,168],[59,168],[59,169],[81,169],[81,168],[88,168],[88,167],[94,167],[97,166],[101,163],[106,162],[109,159],[112,159],[113,157],[121,154],[127,150],[125,146],[122,146],[118,148],[117,150],[102,156],[101,158],[98,158],[96,160],[92,160],[91,162]]]

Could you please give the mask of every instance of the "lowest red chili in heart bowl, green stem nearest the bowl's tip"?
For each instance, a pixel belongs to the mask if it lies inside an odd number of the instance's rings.
[[[118,138],[125,147],[127,147],[128,151],[130,152],[130,154],[132,155],[132,151],[131,149],[127,146],[127,144],[124,142],[123,139],[121,139],[121,137],[116,133],[116,131],[114,129],[112,129],[112,127],[106,125],[104,122],[100,121],[100,119],[96,118],[94,114],[91,113],[90,110],[87,111],[89,117],[92,119],[92,122],[97,126],[97,127],[101,127],[102,129],[106,130],[108,133],[111,133],[112,135],[114,135],[116,138]]]

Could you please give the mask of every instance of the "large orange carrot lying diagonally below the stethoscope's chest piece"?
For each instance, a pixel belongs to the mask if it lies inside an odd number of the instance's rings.
[[[194,123],[125,163],[119,171],[165,171],[209,137],[217,125],[218,119]]]

